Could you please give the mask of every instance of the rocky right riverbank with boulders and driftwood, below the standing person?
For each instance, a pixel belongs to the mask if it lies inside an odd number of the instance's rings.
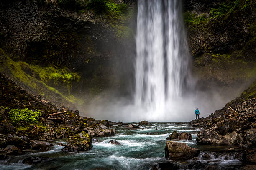
[[[197,145],[230,146],[226,153],[249,164],[242,170],[256,169],[256,98],[233,100],[215,113],[189,124],[203,128],[197,135]]]

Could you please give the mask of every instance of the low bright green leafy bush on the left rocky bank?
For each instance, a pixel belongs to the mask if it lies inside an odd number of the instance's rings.
[[[15,126],[25,126],[31,123],[38,123],[40,111],[32,111],[29,109],[12,109],[9,111],[10,121]]]

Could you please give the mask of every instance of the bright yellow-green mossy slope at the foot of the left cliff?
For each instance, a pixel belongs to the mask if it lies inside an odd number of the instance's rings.
[[[71,94],[72,83],[79,82],[81,76],[77,72],[69,72],[66,68],[40,67],[29,65],[26,62],[15,62],[0,48],[0,59],[3,62],[1,72],[10,71],[13,78],[38,90],[43,97],[61,95],[65,100],[81,104],[82,101]],[[58,88],[59,90],[56,90]],[[60,91],[61,90],[61,91]]]

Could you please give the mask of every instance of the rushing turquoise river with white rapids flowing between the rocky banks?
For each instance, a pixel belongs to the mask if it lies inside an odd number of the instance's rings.
[[[98,138],[99,143],[93,143],[92,150],[81,153],[61,152],[63,146],[54,146],[52,150],[40,153],[30,153],[8,160],[0,161],[0,170],[149,170],[155,163],[166,161],[164,147],[166,138],[174,131],[188,132],[192,134],[192,140],[179,142],[200,149],[200,155],[208,153],[210,161],[200,160],[209,165],[218,165],[223,168],[241,167],[242,163],[233,156],[219,155],[213,152],[222,152],[230,147],[213,147],[196,145],[199,128],[190,127],[186,123],[152,123],[143,125],[140,130],[122,130],[113,126],[117,134],[113,137]],[[116,140],[121,145],[108,143]],[[64,141],[59,141],[65,143]],[[55,142],[56,143],[56,142]],[[48,159],[36,165],[22,164],[21,160],[34,157],[46,157]],[[199,156],[200,157],[200,156]],[[192,160],[187,161],[187,164]],[[186,163],[177,163],[184,166]]]

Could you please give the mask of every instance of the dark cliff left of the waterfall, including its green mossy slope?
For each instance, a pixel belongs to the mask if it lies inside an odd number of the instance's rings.
[[[119,70],[132,70],[125,63],[131,61],[129,56],[135,49],[133,26],[129,25],[134,2],[104,1],[102,6],[95,3],[93,0],[0,2],[0,48],[4,64],[1,71],[48,99],[56,101],[55,95],[64,96],[57,104],[79,102],[78,98],[85,95],[90,97],[122,85],[125,89],[129,82],[121,80],[124,72]],[[10,62],[13,64],[9,65]],[[42,70],[51,73],[43,75]],[[74,74],[78,77],[74,78]],[[35,89],[36,86],[41,90]],[[77,99],[73,100],[74,96]]]

